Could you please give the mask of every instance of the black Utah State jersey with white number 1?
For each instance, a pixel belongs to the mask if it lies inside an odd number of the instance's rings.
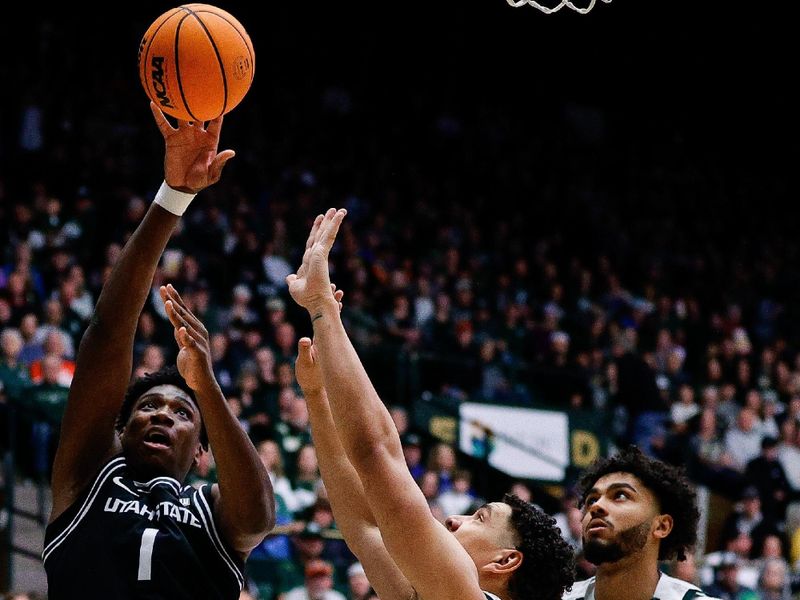
[[[243,562],[219,535],[211,487],[138,482],[123,456],[47,526],[50,600],[236,600]]]

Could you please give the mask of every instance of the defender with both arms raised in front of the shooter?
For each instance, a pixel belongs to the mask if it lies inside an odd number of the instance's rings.
[[[382,600],[558,600],[574,578],[555,520],[515,496],[446,527],[408,470],[400,438],[344,330],[328,255],[344,218],[314,221],[289,292],[311,315],[297,378],[337,523]]]

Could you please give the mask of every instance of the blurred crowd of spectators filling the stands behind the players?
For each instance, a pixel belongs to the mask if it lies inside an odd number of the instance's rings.
[[[0,119],[2,444],[14,405],[26,477],[48,472],[81,335],[160,184],[160,138],[130,74],[108,66],[114,98],[61,85],[59,53],[78,42],[46,30],[39,42],[52,87],[4,99]],[[89,94],[99,104],[81,109]],[[595,411],[611,416],[616,445],[685,465],[728,502],[705,553],[667,568],[726,600],[788,598],[800,573],[800,253],[794,223],[754,205],[780,183],[600,110],[564,110],[556,127],[420,95],[382,120],[367,94],[254,91],[223,131],[239,156],[187,212],[139,321],[134,376],[174,360],[157,290],[179,290],[268,467],[278,527],[248,562],[249,593],[370,597],[293,377],[310,327],[284,278],[330,205],[349,211],[333,250],[343,317],[435,514],[508,490],[476,489],[452,446],[414,430],[414,394]],[[602,159],[597,127],[615,136]],[[410,356],[413,377],[397,369]],[[213,449],[192,477],[214,480]],[[530,499],[533,486],[513,491]],[[569,486],[557,518],[580,554]]]

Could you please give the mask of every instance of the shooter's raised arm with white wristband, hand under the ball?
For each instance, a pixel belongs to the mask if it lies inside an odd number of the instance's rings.
[[[125,244],[81,340],[53,464],[51,520],[119,451],[114,425],[131,377],[136,324],[158,261],[182,209],[219,180],[234,155],[232,150],[217,153],[222,117],[207,128],[184,122],[173,128],[152,102],[150,108],[166,146],[165,185]]]

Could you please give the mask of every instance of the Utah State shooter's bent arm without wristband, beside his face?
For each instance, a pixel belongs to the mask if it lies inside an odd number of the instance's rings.
[[[178,371],[194,390],[214,450],[214,517],[228,544],[243,558],[275,525],[275,498],[267,470],[233,415],[211,367],[208,331],[172,285],[160,288],[178,343]]]

